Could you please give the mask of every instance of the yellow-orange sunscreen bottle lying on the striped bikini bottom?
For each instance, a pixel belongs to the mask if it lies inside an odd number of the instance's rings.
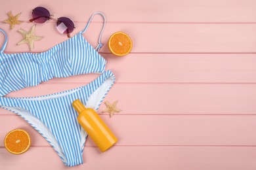
[[[108,126],[104,124],[95,110],[86,109],[79,99],[75,100],[72,105],[79,114],[77,116],[79,124],[85,129],[89,137],[93,139],[102,152],[108,150],[108,148],[117,142],[118,139],[110,131]]]

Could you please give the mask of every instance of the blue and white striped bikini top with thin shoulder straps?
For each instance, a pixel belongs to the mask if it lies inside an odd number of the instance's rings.
[[[94,49],[83,37],[95,14],[100,14],[104,25],[98,39],[98,46]],[[57,44],[53,48],[41,53],[23,52],[5,54],[5,42],[0,50],[0,96],[29,86],[36,86],[54,77],[67,77],[86,73],[103,73],[106,60],[98,54],[102,43],[102,32],[106,24],[104,14],[95,12],[83,31],[74,37]]]

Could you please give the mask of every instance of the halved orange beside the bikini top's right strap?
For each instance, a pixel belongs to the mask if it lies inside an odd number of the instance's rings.
[[[108,39],[108,48],[116,56],[125,56],[131,52],[133,42],[130,37],[121,31],[114,33]]]

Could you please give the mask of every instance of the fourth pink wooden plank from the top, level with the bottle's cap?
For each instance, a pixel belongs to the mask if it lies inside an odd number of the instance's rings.
[[[40,84],[7,96],[46,95],[85,84]],[[116,100],[121,114],[256,114],[256,84],[116,83],[105,101]],[[104,108],[102,103],[99,112]]]

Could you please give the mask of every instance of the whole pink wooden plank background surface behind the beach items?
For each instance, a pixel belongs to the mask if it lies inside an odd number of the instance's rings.
[[[256,1],[129,0],[14,1],[0,6],[0,27],[9,35],[6,52],[28,52],[19,28],[28,30],[31,11],[47,7],[55,16],[75,21],[72,35],[95,11],[106,14],[102,42],[116,31],[133,39],[131,54],[117,58],[101,50],[116,84],[106,100],[122,110],[100,114],[119,142],[105,153],[87,141],[84,164],[70,169],[256,169]],[[3,24],[7,12],[22,12],[21,25]],[[102,26],[95,16],[85,38],[96,46]],[[34,52],[66,40],[54,22],[37,24]],[[3,43],[1,35],[0,43]],[[10,93],[35,96],[83,86],[98,75],[54,78]],[[99,113],[105,106],[102,103]],[[5,134],[26,129],[32,146],[20,156],[5,150]],[[68,169],[53,148],[22,118],[0,110],[0,169]]]

